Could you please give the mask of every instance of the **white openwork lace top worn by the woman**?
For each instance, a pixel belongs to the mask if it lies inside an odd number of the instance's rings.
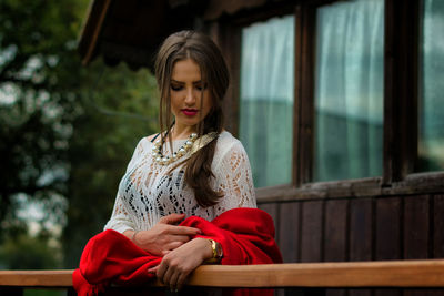
[[[173,151],[178,151],[185,141],[173,141]],[[212,188],[222,192],[223,197],[206,208],[198,204],[194,192],[184,183],[182,167],[169,174],[175,163],[160,165],[153,161],[152,145],[144,137],[135,147],[119,184],[112,216],[104,229],[120,233],[128,229],[143,231],[172,213],[185,213],[186,217],[195,215],[211,221],[230,208],[256,207],[246,152],[242,143],[229,132],[220,134],[211,165],[215,176],[211,180]],[[169,150],[170,144],[164,144],[163,154],[169,155]]]

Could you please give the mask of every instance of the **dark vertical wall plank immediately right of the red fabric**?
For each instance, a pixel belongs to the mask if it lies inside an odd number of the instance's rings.
[[[278,244],[281,248],[284,262],[297,262],[300,248],[300,204],[280,204],[280,227]]]

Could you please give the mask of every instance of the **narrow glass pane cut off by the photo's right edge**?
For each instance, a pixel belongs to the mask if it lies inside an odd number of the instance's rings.
[[[418,171],[444,170],[444,1],[424,0]]]

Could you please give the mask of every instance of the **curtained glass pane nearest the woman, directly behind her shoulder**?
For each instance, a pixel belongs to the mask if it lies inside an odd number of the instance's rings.
[[[242,30],[240,139],[256,187],[292,176],[294,18]]]

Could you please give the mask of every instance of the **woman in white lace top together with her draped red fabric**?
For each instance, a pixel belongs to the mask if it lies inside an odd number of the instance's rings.
[[[155,76],[163,132],[139,142],[105,231],[73,274],[79,295],[154,275],[178,290],[204,263],[282,262],[273,221],[256,208],[246,153],[222,126],[229,72],[218,47],[198,32],[174,33]]]

